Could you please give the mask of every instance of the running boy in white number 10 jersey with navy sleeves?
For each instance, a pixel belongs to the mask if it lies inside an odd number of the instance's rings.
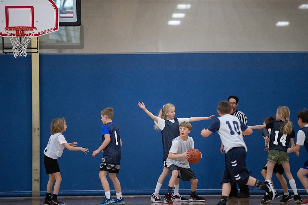
[[[221,142],[225,147],[226,162],[225,172],[221,180],[221,199],[216,205],[225,205],[227,203],[231,183],[260,187],[274,199],[275,190],[270,180],[261,182],[250,176],[246,168],[247,147],[242,135],[250,135],[253,131],[237,117],[230,115],[230,111],[231,105],[228,101],[220,102],[217,106],[217,113],[220,117],[215,119],[208,129],[201,131],[203,137],[208,137],[213,132],[218,131]]]

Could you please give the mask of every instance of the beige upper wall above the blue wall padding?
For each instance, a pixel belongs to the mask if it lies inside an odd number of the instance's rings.
[[[40,53],[307,51],[307,0],[82,0],[84,48]],[[189,10],[178,10],[180,3]],[[185,18],[173,19],[173,13]],[[169,20],[180,20],[169,26]],[[278,21],[289,26],[278,27]]]

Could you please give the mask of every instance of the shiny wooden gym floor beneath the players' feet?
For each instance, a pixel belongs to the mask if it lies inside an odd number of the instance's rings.
[[[183,195],[188,198],[188,195]],[[219,202],[220,195],[200,195],[205,197],[205,202],[174,202],[174,205],[215,205]],[[163,197],[163,195],[160,195]],[[250,195],[250,198],[229,198],[227,205],[260,205],[263,195]],[[282,204],[278,199],[273,200],[269,205]],[[307,195],[302,195],[302,200],[305,201]],[[126,205],[159,205],[163,203],[153,203],[150,195],[124,195]],[[103,198],[101,196],[59,196],[60,201],[66,205],[98,205]],[[0,197],[1,205],[43,205],[44,197]],[[295,204],[294,200],[283,204]],[[166,205],[166,204],[164,204]]]

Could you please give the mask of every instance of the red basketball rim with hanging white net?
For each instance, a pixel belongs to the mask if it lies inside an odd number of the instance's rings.
[[[27,46],[36,32],[36,27],[9,26],[4,30],[12,42],[14,57],[27,56]]]

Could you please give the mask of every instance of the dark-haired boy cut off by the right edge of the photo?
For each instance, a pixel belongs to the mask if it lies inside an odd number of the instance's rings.
[[[299,151],[302,145],[305,146],[306,151],[308,152],[308,110],[307,109],[298,112],[297,123],[301,129],[297,132],[297,140],[296,140],[295,147],[292,146],[291,148],[288,148],[288,151],[287,151],[288,153]],[[308,179],[306,177],[307,174],[308,174],[308,160],[302,165],[301,168],[299,168],[297,172],[298,179],[302,182],[304,188],[306,189],[308,193]],[[302,204],[307,205],[308,198]]]

